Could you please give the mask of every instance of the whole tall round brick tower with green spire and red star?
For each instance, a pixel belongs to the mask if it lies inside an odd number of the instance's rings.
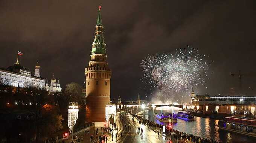
[[[108,68],[103,28],[101,21],[101,6],[99,6],[95,37],[90,54],[91,60],[89,61],[88,67],[85,68],[85,118],[86,121],[95,122],[96,126],[103,126],[105,120],[105,107],[110,103],[111,70]]]

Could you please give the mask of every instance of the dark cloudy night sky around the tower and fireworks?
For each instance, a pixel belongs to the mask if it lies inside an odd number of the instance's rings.
[[[135,99],[138,92],[145,98],[150,92],[139,80],[141,60],[186,45],[214,61],[207,88],[198,86],[196,93],[238,92],[238,76],[229,74],[241,69],[243,94],[255,95],[255,0],[1,0],[0,67],[13,65],[20,51],[20,64],[32,73],[39,59],[41,77],[55,73],[62,88],[82,84],[100,4],[111,98]]]

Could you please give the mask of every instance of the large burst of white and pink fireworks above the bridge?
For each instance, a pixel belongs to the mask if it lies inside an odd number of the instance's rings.
[[[210,65],[205,58],[205,55],[188,47],[176,50],[174,54],[149,55],[142,60],[141,67],[144,78],[153,88],[158,87],[163,92],[181,92],[198,84],[204,85]]]

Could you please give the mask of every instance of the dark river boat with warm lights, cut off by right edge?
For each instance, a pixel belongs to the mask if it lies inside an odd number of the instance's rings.
[[[225,117],[219,120],[218,127],[221,130],[232,131],[251,137],[256,137],[256,120],[250,118]]]

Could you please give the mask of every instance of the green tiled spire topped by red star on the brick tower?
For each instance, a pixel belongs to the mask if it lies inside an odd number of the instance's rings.
[[[106,43],[103,36],[103,26],[101,21],[101,6],[99,6],[99,14],[96,23],[95,37],[93,40],[93,47],[91,54],[106,54]]]

